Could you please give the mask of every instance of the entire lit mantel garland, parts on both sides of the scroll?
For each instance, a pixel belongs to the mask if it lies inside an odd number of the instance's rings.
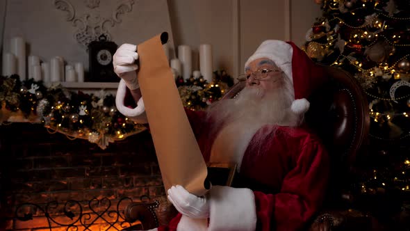
[[[233,85],[224,70],[213,73],[211,83],[203,77],[176,79],[183,106],[204,110]],[[13,115],[21,118],[13,120]],[[147,129],[119,113],[115,97],[104,90],[88,95],[69,91],[59,83],[47,87],[33,79],[20,81],[17,74],[0,76],[0,124],[22,120],[42,122],[50,133],[65,134],[70,140],[83,138],[101,149]]]

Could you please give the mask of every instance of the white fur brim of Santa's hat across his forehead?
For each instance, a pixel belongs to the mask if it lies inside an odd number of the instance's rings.
[[[258,58],[269,58],[277,67],[285,72],[286,77],[288,77],[293,84],[292,56],[293,48],[287,42],[281,40],[265,40],[258,49],[256,49],[255,53],[248,58],[245,63],[245,68],[249,63]]]

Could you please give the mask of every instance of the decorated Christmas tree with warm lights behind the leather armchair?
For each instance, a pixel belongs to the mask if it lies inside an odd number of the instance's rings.
[[[350,72],[369,102],[368,154],[351,190],[356,198],[373,198],[368,205],[377,201],[376,214],[409,214],[410,1],[316,3],[322,17],[306,33],[304,51],[316,63]]]

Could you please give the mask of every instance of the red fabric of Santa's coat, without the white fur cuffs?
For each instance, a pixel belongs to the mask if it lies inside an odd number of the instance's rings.
[[[208,161],[218,129],[213,132],[213,124],[204,120],[204,112],[187,111],[187,115]],[[302,230],[322,203],[328,175],[329,158],[318,137],[302,127],[265,125],[246,148],[240,166],[240,178],[245,180],[238,186],[253,190],[256,230]],[[170,225],[158,230],[176,230],[180,219],[179,214]],[[230,222],[229,218],[222,220]]]

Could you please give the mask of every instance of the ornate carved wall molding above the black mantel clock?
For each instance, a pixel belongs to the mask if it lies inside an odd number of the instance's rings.
[[[90,42],[98,40],[101,35],[111,40],[108,27],[122,22],[121,16],[130,13],[135,3],[134,0],[122,0],[117,3],[111,17],[102,17],[98,10],[91,10],[81,16],[76,16],[76,10],[69,0],[51,0],[54,8],[67,13],[67,22],[73,22],[77,28],[74,38],[79,44],[88,47]],[[99,0],[84,0],[85,6],[91,9],[99,8]]]

